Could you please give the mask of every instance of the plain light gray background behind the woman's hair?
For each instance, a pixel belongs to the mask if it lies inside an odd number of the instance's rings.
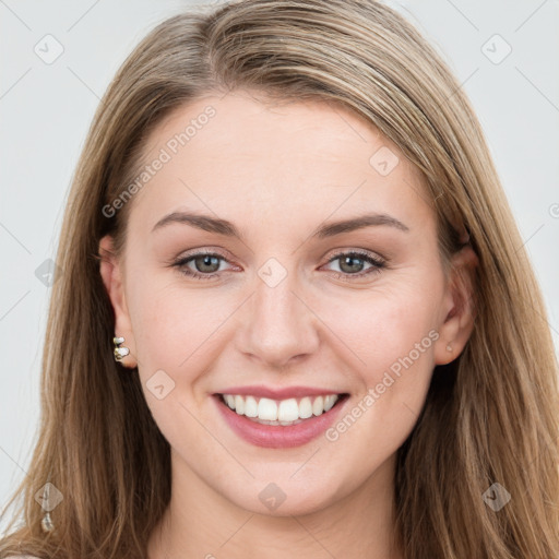
[[[94,110],[138,41],[190,3],[0,0],[0,504],[25,475],[39,419],[49,287],[35,271],[55,255]],[[559,1],[386,3],[428,36],[472,99],[559,347]],[[56,52],[46,35],[63,47],[52,63],[35,52]]]

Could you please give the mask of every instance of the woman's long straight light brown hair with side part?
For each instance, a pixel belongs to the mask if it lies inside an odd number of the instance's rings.
[[[477,253],[476,321],[463,353],[436,367],[425,407],[399,450],[397,538],[408,559],[559,557],[558,364],[523,242],[466,95],[397,12],[370,0],[243,0],[153,29],[111,82],[70,192],[43,356],[41,423],[22,525],[0,556],[145,557],[170,498],[170,450],[138,370],[112,358],[114,314],[99,239],[122,250],[133,200],[115,215],[145,139],[210,92],[341,103],[395,142],[425,175],[441,254],[464,226]],[[147,187],[148,188],[148,187]],[[35,493],[63,496],[40,528]],[[500,484],[510,501],[484,500]],[[493,489],[490,489],[490,488]],[[7,507],[7,508],[8,508]]]

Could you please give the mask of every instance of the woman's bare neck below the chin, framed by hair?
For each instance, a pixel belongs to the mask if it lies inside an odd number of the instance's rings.
[[[266,559],[284,559],[286,550],[292,559],[402,558],[393,544],[394,456],[345,497],[312,513],[282,516],[238,507],[171,456],[171,499],[150,536],[150,559],[243,559],[263,549]]]

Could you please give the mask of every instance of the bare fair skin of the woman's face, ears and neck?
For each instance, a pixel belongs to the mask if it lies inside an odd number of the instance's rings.
[[[138,365],[171,447],[171,501],[148,557],[283,559],[288,550],[292,559],[400,559],[395,453],[433,367],[455,359],[471,335],[473,310],[461,302],[468,285],[443,273],[417,169],[338,106],[270,106],[248,92],[209,96],[152,133],[145,163],[169,151],[169,140],[210,105],[215,116],[128,202],[122,259],[110,254],[109,237],[99,247],[115,332],[130,348],[122,364]],[[383,146],[399,157],[388,174],[370,163]],[[187,211],[231,222],[242,239],[177,222],[153,230]],[[384,223],[312,236],[364,213],[404,228]],[[200,250],[215,260],[171,265]],[[377,263],[360,255],[347,263],[356,250]],[[259,275],[269,259],[277,262],[274,274],[285,272],[273,287]],[[475,255],[464,250],[455,263],[471,269]],[[412,365],[378,390],[405,356]],[[146,385],[160,370],[175,383],[162,400]],[[239,438],[212,397],[248,384],[348,393],[345,412],[360,405],[362,413],[330,439],[265,449]],[[364,400],[368,389],[378,396],[372,404]],[[271,483],[285,495],[274,510],[259,498]]]

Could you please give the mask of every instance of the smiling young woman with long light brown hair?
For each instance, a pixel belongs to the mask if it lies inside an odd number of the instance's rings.
[[[539,287],[466,96],[385,5],[162,23],[58,264],[1,557],[559,556]]]

